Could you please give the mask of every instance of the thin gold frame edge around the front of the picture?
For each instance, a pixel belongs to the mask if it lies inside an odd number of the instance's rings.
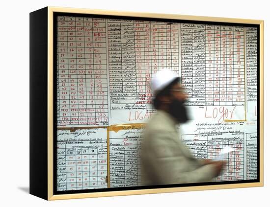
[[[81,14],[99,14],[111,16],[128,16],[128,17],[144,17],[157,19],[176,19],[176,20],[194,20],[194,21],[210,21],[222,23],[249,23],[260,25],[260,182],[258,183],[244,183],[244,184],[218,184],[218,185],[202,185],[189,187],[172,187],[172,188],[156,188],[156,189],[142,189],[142,190],[121,190],[95,193],[74,193],[74,194],[53,194],[53,13],[81,13]],[[234,19],[234,18],[220,18],[220,17],[202,17],[202,16],[188,16],[176,14],[155,14],[155,13],[141,13],[141,12],[123,12],[111,10],[93,10],[93,9],[79,9],[79,8],[64,8],[64,7],[48,7],[48,200],[60,199],[75,199],[75,198],[93,198],[106,196],[121,196],[121,195],[138,195],[150,193],[169,193],[169,192],[183,192],[196,190],[214,190],[227,188],[242,188],[242,187],[259,187],[264,186],[264,21],[263,20],[248,20],[248,19]]]

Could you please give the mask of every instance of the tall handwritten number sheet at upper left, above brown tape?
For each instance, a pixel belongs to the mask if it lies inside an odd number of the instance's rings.
[[[104,19],[58,16],[57,124],[108,125]]]

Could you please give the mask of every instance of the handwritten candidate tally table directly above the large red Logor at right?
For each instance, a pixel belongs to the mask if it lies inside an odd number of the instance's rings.
[[[187,105],[244,106],[244,28],[181,24]]]

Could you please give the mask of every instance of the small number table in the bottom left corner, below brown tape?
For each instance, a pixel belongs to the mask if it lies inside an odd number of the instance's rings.
[[[57,190],[107,188],[106,150],[102,147],[72,148],[69,145],[57,143]]]

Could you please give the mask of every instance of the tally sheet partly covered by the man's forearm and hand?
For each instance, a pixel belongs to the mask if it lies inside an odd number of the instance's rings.
[[[214,181],[243,180],[244,145],[243,133],[234,136],[232,133],[183,135],[182,139],[190,153],[196,159],[215,160],[219,157],[222,148],[231,147],[234,151],[225,155],[227,164]]]

